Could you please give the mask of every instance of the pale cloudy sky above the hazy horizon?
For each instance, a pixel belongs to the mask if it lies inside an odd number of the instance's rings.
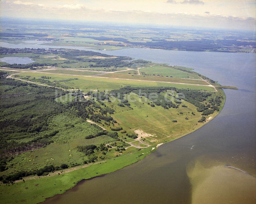
[[[0,18],[255,30],[255,0],[1,0]]]

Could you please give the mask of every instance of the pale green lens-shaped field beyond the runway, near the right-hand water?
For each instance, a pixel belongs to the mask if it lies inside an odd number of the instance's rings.
[[[178,67],[177,67],[178,68]],[[149,75],[160,75],[160,76],[172,76],[174,78],[188,78],[189,79],[200,79],[196,74],[191,74],[185,71],[177,70],[171,67],[164,67],[164,66],[152,66],[146,68],[140,68],[140,73],[145,73]]]

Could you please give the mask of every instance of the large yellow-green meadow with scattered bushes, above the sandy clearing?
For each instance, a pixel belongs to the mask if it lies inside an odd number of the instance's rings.
[[[197,112],[196,106],[186,101],[183,101],[182,105],[187,105],[187,108],[180,105],[178,109],[166,110],[162,106],[151,107],[147,104],[150,101],[144,97],[140,99],[135,94],[131,94],[129,97],[135,101],[131,104],[133,110],[129,109],[127,111],[127,107],[118,106],[118,101],[112,103],[116,109],[116,113],[113,115],[114,119],[118,121],[123,129],[131,129],[131,132],[141,129],[145,133],[151,134],[155,140],[181,134],[194,127],[201,117],[201,113]],[[167,98],[172,100],[171,96],[167,96]],[[179,114],[180,112],[183,112],[183,114]],[[191,112],[196,115],[192,115]],[[178,122],[173,123],[173,120]]]

